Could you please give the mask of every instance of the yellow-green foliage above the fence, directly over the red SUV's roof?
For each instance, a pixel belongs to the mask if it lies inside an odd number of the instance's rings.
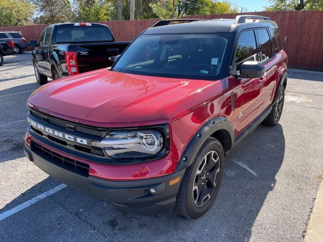
[[[159,0],[155,4],[150,4],[150,7],[153,13],[161,19],[238,12],[226,1],[213,2],[212,0]]]

